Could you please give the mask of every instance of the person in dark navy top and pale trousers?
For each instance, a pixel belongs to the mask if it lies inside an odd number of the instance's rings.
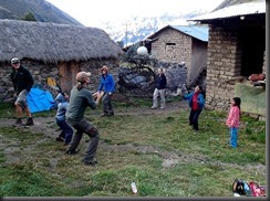
[[[158,96],[160,97],[160,109],[165,108],[166,98],[165,98],[165,88],[167,85],[167,78],[164,74],[164,70],[162,67],[158,68],[158,75],[156,76],[156,87],[153,94],[153,106],[152,109],[156,109],[158,107]]]

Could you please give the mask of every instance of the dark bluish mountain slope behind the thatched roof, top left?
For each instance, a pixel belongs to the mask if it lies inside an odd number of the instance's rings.
[[[0,0],[0,19],[18,20],[32,13],[39,22],[82,25],[74,18],[45,0]]]

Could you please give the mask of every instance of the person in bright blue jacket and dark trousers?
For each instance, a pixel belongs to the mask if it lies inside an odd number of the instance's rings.
[[[103,114],[102,116],[114,116],[112,96],[115,92],[115,82],[113,75],[108,73],[108,67],[103,65],[101,68],[101,78],[97,93],[104,92],[102,97]]]

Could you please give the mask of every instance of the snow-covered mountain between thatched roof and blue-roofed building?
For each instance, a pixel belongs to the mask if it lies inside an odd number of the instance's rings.
[[[196,15],[207,13],[206,10],[193,10],[188,13],[164,13],[159,17],[132,17],[125,21],[105,21],[101,29],[106,31],[115,42],[123,42],[123,45],[136,43],[166,25],[187,25],[187,21]]]

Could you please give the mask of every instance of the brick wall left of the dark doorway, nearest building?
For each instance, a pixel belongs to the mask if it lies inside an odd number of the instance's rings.
[[[227,110],[235,93],[228,81],[241,73],[241,50],[235,28],[209,28],[206,107]]]

